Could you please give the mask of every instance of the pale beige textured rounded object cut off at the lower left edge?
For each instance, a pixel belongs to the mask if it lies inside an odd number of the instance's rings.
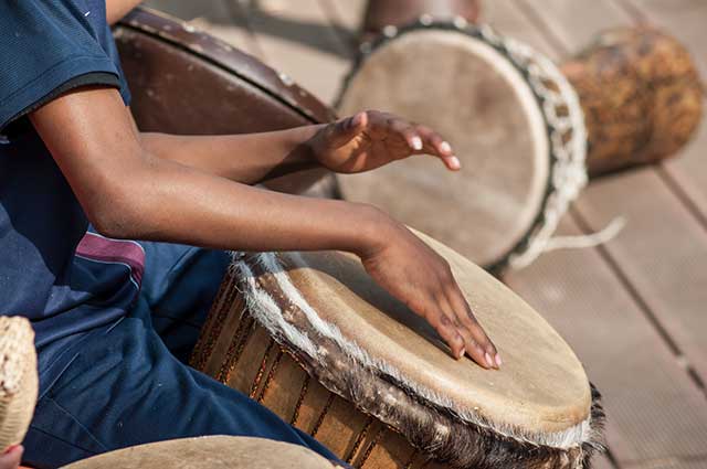
[[[24,439],[38,390],[34,331],[30,321],[0,316],[0,455]]]

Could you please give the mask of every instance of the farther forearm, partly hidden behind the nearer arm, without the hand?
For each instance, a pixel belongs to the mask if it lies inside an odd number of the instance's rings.
[[[307,141],[320,126],[230,136],[140,134],[143,147],[160,159],[245,184],[312,169]]]

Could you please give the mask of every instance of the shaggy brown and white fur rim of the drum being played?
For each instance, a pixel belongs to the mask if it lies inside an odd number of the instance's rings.
[[[590,415],[564,431],[538,434],[488,422],[474,409],[458,408],[435,391],[412,383],[344,338],[302,297],[275,254],[232,253],[232,257],[230,275],[242,285],[249,312],[300,359],[309,374],[435,459],[455,468],[490,469],[499,463],[511,469],[582,468],[603,450],[604,412],[593,385]]]

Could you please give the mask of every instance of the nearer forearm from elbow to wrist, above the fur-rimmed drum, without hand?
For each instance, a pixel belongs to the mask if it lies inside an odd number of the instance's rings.
[[[384,226],[379,211],[342,201],[279,194],[157,158],[129,168],[130,182],[94,207],[112,237],[236,251],[361,253]]]

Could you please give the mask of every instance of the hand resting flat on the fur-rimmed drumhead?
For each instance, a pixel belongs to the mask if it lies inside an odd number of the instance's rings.
[[[449,263],[404,225],[380,224],[379,243],[359,254],[368,274],[388,292],[423,317],[452,350],[485,369],[500,356],[474,317]]]

